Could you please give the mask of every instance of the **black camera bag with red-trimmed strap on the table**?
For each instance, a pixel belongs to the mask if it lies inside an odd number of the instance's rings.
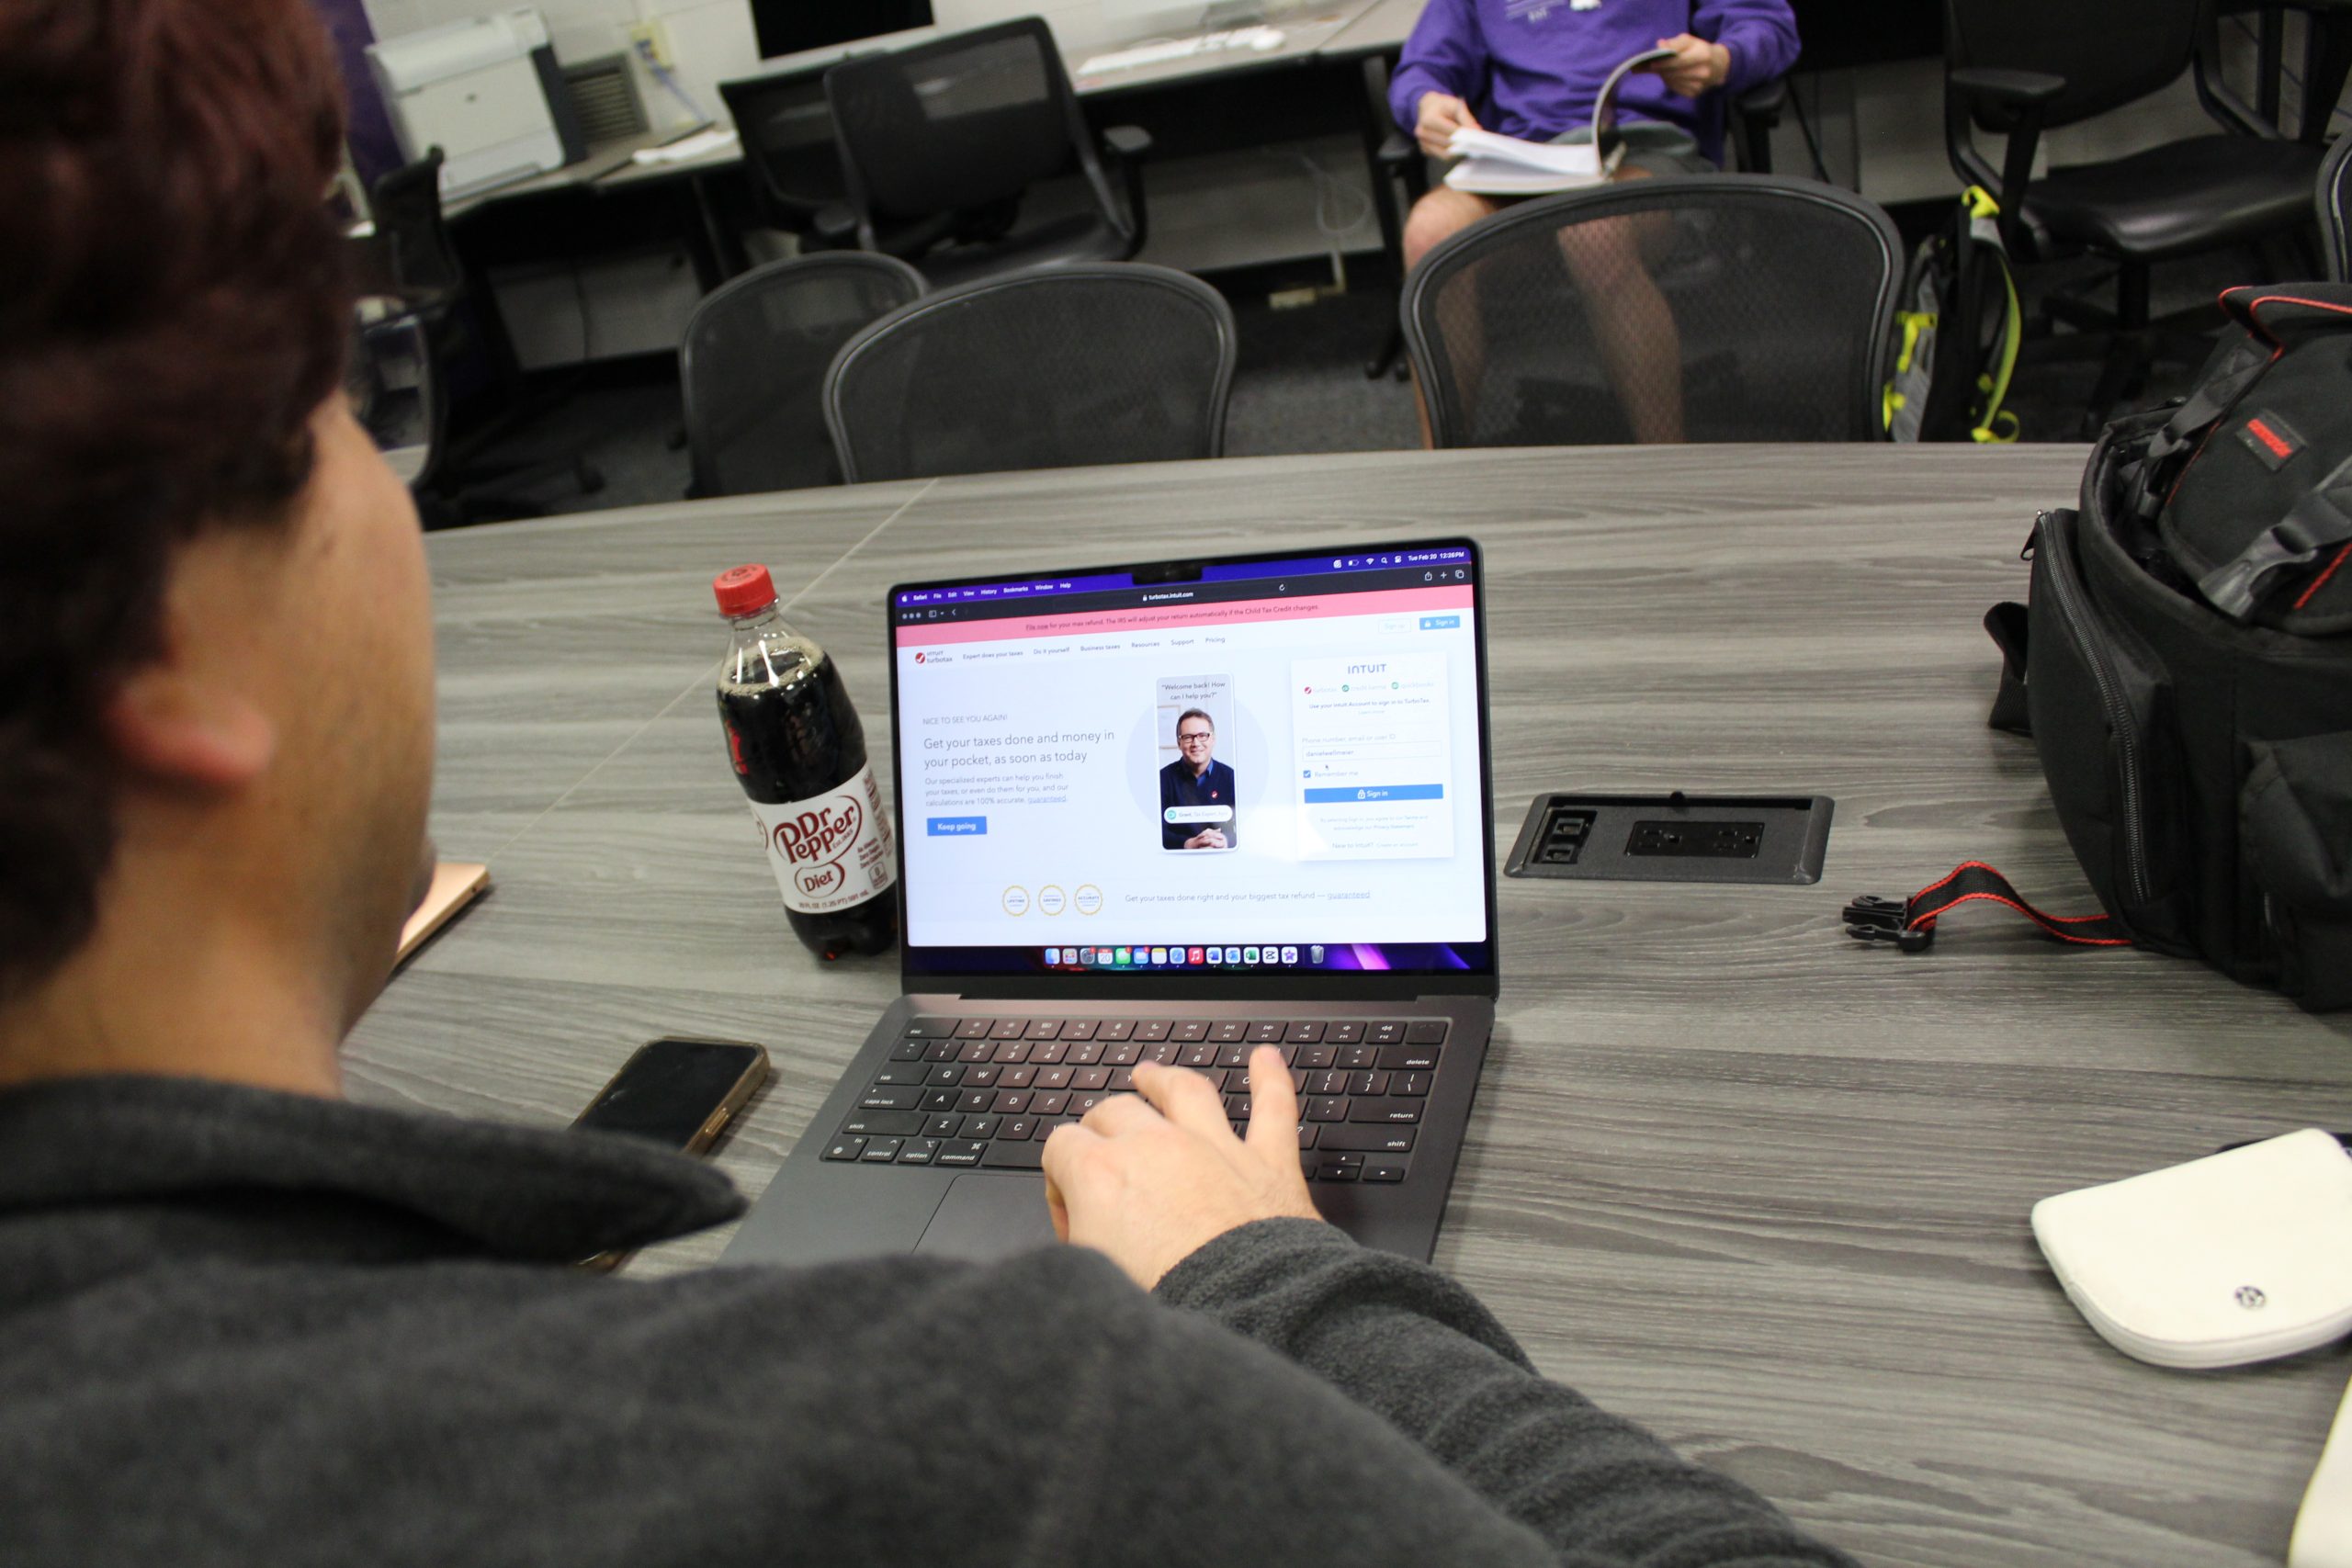
[[[1971,863],[1849,905],[1849,933],[1919,950],[1987,898],[2352,1006],[2352,287],[2223,306],[2244,331],[2178,409],[2107,428],[2079,508],[2034,522],[2030,602],[1985,616],[1992,724],[2032,733],[2105,914],[2044,914]]]

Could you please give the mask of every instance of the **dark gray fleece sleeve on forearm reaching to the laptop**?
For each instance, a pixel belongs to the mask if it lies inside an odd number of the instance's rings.
[[[1559,1561],[1849,1561],[1729,1476],[1541,1378],[1494,1314],[1444,1274],[1362,1248],[1329,1225],[1244,1225],[1176,1265],[1155,1293],[1385,1418]]]

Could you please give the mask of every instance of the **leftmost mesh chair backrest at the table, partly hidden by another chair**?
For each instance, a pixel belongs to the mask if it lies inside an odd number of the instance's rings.
[[[826,369],[861,327],[922,287],[922,273],[896,256],[818,252],[713,289],[677,348],[694,494],[840,484]]]

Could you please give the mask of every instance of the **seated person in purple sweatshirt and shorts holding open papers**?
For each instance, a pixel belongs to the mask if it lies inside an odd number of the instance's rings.
[[[1722,162],[1724,99],[1797,61],[1788,0],[1430,0],[1388,85],[1397,125],[1430,158],[1456,129],[1526,141],[1585,141],[1592,103],[1618,61],[1644,49],[1672,59],[1618,87],[1625,160],[1616,179],[1712,172]],[[1404,266],[1498,212],[1508,197],[1437,186],[1404,221]],[[1611,381],[1635,440],[1682,440],[1682,397],[1649,374],[1677,346],[1675,317],[1625,223],[1590,223],[1562,252],[1595,313]],[[1472,350],[1475,357],[1475,350]]]

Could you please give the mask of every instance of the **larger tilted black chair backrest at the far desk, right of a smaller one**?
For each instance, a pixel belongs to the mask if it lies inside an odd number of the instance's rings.
[[[1054,31],[1037,16],[847,59],[826,73],[826,99],[868,226],[988,207],[1073,169],[1117,214]]]

